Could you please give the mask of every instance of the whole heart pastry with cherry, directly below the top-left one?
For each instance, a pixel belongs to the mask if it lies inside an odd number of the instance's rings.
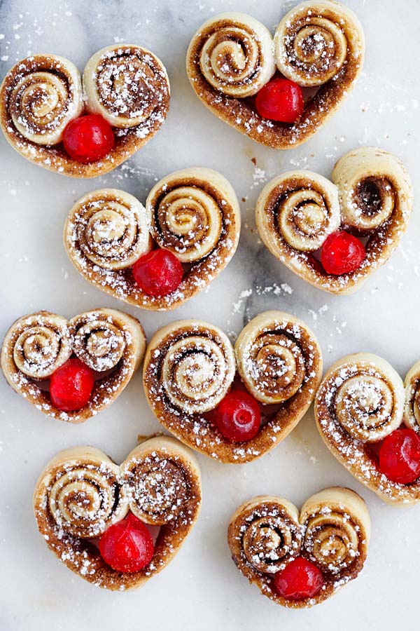
[[[88,193],[67,217],[64,246],[95,287],[130,304],[166,311],[203,290],[228,265],[240,223],[228,180],[196,167],[161,179],[146,208],[124,191]]]

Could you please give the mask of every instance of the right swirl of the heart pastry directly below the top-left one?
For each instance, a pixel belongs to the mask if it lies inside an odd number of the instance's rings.
[[[183,263],[200,261],[216,248],[224,231],[224,206],[230,196],[209,169],[177,171],[148,195],[146,208],[153,239]]]

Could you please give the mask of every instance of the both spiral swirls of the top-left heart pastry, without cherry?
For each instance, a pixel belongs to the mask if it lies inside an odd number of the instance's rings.
[[[130,129],[166,111],[169,102],[165,67],[140,46],[99,50],[87,62],[83,82],[76,66],[57,55],[27,57],[6,81],[13,125],[27,140],[45,146],[61,142],[66,125],[84,107],[115,128]]]

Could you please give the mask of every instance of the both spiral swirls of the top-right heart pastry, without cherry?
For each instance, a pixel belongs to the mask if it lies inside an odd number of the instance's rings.
[[[338,4],[318,1],[289,11],[274,40],[250,15],[222,13],[200,27],[188,58],[198,46],[204,79],[218,92],[244,98],[255,95],[276,69],[300,86],[322,86],[344,67],[349,41],[359,41],[363,49],[355,16]]]

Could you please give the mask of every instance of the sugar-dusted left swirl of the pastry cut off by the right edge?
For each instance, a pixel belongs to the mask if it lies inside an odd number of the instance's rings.
[[[388,362],[358,353],[332,366],[316,401],[321,424],[330,419],[356,440],[377,442],[400,426],[404,388]]]

